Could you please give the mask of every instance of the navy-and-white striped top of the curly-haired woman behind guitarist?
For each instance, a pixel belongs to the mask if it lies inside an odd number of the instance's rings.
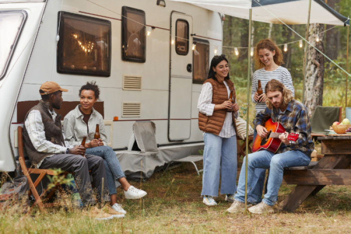
[[[258,69],[254,72],[254,75],[252,78],[252,89],[251,89],[252,102],[256,103],[256,114],[260,111],[263,111],[267,107],[266,103],[256,102],[254,99],[255,93],[257,91],[258,80],[261,81],[261,87],[262,87],[263,93],[265,93],[264,88],[266,87],[266,84],[268,83],[268,81],[272,79],[278,80],[281,83],[283,83],[287,89],[291,90],[292,96],[295,96],[295,90],[294,90],[294,86],[292,85],[291,75],[286,68],[279,66],[277,69],[270,72],[264,70],[264,68]]]

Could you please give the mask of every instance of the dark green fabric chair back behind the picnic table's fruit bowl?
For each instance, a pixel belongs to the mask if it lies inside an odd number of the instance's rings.
[[[311,127],[312,132],[317,134],[327,133],[324,129],[329,129],[333,122],[339,120],[340,107],[317,106],[312,114]]]

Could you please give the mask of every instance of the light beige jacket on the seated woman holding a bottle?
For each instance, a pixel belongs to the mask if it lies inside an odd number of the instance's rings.
[[[87,136],[85,143],[89,143],[94,139],[96,124],[99,124],[100,138],[104,145],[107,145],[105,124],[102,115],[94,108],[92,109],[92,113],[88,120],[88,132],[87,124],[83,121],[83,114],[79,111],[79,107],[80,105],[71,110],[63,120],[65,140],[69,141],[71,145],[76,146],[82,143],[84,136]]]

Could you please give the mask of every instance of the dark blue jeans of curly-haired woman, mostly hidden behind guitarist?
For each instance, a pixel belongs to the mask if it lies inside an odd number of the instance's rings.
[[[256,129],[254,129],[254,140],[257,135]],[[252,176],[252,181],[248,183],[247,201],[253,204],[258,204],[262,201],[262,191],[264,185],[264,178],[266,177],[266,169],[256,168]],[[267,178],[268,180],[268,178]],[[267,189],[267,185],[266,185]],[[266,191],[265,191],[266,193]]]

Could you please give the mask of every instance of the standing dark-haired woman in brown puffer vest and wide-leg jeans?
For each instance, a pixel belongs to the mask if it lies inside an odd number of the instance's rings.
[[[237,176],[237,144],[235,118],[239,116],[237,103],[228,101],[230,92],[235,97],[233,82],[229,79],[228,60],[216,55],[208,79],[201,89],[198,110],[199,128],[204,132],[204,174],[201,195],[206,205],[217,205],[221,172],[221,194],[226,201],[234,201]],[[227,112],[229,109],[230,112]]]

